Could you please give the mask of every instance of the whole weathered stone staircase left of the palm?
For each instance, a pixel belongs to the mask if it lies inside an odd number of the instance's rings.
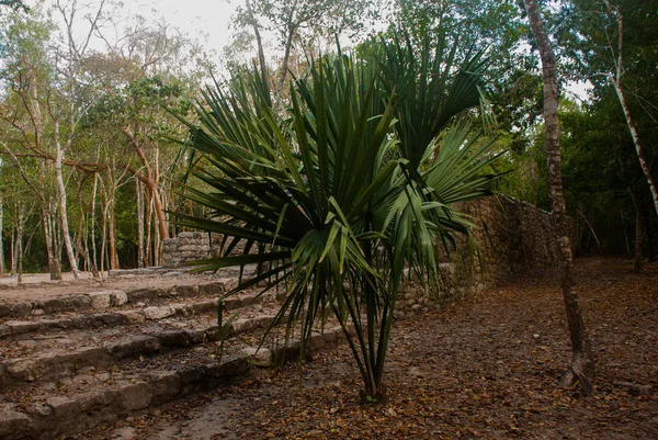
[[[220,347],[217,298],[237,285],[235,272],[223,277],[0,304],[0,439],[80,433],[298,360],[299,341],[284,345],[280,335],[259,349],[279,307],[274,293],[226,300],[223,319],[242,312]],[[334,346],[341,335],[325,328],[310,348]]]

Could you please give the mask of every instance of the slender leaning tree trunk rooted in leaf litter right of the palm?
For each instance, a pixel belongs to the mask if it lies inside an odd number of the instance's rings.
[[[530,26],[537,44],[542,59],[542,75],[544,79],[544,124],[546,132],[546,161],[548,166],[548,191],[553,206],[558,257],[561,270],[560,286],[569,325],[572,358],[571,365],[561,380],[563,386],[580,384],[583,394],[592,394],[591,377],[594,374],[594,361],[591,354],[589,338],[580,312],[578,292],[572,290],[574,277],[571,273],[574,257],[567,223],[567,210],[561,181],[561,158],[559,150],[559,120],[557,65],[551,41],[546,35],[544,23],[540,15],[536,0],[524,0]]]

